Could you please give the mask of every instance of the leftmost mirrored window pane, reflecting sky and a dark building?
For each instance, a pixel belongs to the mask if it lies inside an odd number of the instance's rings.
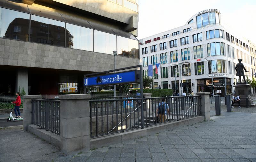
[[[29,14],[5,8],[1,11],[0,37],[28,41]]]

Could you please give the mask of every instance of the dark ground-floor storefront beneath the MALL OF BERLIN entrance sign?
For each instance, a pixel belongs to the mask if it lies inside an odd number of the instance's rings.
[[[225,95],[225,79],[213,78],[214,95]],[[226,78],[227,94],[232,93],[230,78]],[[197,92],[212,92],[212,79],[197,79]]]

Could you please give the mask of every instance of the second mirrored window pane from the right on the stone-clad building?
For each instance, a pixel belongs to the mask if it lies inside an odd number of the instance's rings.
[[[94,30],[94,52],[112,54],[113,51],[116,51],[116,35]]]

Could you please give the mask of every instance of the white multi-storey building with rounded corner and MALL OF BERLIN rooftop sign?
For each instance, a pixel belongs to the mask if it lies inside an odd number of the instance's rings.
[[[218,9],[199,11],[184,26],[140,40],[143,75],[148,76],[148,65],[153,65],[153,87],[184,91],[187,95],[192,91],[213,91],[221,96],[233,93],[238,82],[237,59],[243,59],[249,71],[245,75],[252,78],[256,72],[256,46],[222,25]],[[161,75],[155,74],[157,63]]]

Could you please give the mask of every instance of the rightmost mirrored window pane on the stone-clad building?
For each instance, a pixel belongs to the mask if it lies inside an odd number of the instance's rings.
[[[138,40],[117,36],[117,53],[120,56],[139,58]]]

